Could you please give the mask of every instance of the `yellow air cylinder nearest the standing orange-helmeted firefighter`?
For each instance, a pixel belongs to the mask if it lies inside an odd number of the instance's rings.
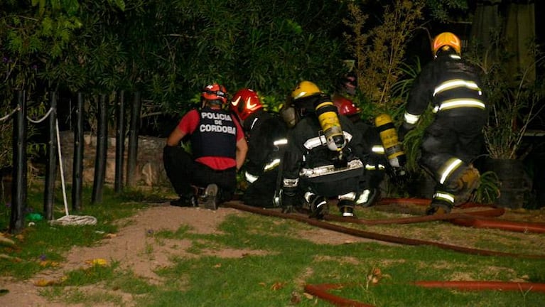
[[[380,114],[374,118],[374,125],[379,130],[380,140],[390,165],[394,168],[405,166],[406,156],[403,144],[397,139],[396,126],[388,114]]]

